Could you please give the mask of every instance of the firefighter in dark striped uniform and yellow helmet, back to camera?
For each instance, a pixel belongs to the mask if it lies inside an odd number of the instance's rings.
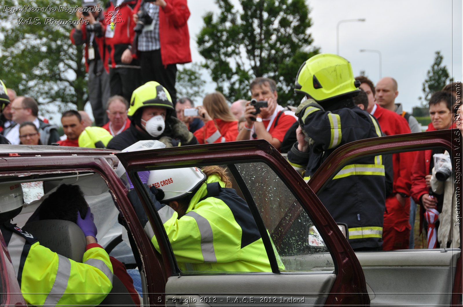
[[[305,97],[296,111],[298,142],[288,152],[288,161],[306,181],[339,146],[382,135],[376,119],[353,102],[359,85],[349,61],[338,55],[315,55],[300,67],[295,92]],[[383,157],[350,163],[319,199],[336,222],[347,224],[354,250],[380,250],[386,187]]]

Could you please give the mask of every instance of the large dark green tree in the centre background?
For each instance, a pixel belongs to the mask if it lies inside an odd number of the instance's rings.
[[[216,0],[220,14],[206,13],[197,43],[203,65],[229,101],[249,98],[255,77],[276,81],[279,103],[294,104],[300,65],[319,52],[307,29],[305,0]]]

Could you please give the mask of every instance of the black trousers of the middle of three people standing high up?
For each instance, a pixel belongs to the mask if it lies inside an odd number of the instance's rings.
[[[109,68],[111,96],[120,95],[130,103],[132,92],[141,85],[139,68]]]

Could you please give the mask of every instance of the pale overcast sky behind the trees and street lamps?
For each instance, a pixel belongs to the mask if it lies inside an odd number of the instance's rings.
[[[437,50],[444,56],[450,74],[455,80],[462,80],[461,0],[310,0],[307,4],[313,21],[308,31],[314,45],[324,53],[336,53],[336,26],[340,20],[366,19],[340,24],[339,55],[352,63],[355,75],[364,70],[376,83],[380,78],[378,54],[359,50],[379,50],[382,77],[397,80],[396,102],[403,103],[406,111],[419,104],[422,83]],[[204,61],[197,51],[196,36],[203,26],[204,14],[218,12],[218,6],[214,0],[200,0],[188,1],[188,7],[193,62]],[[212,92],[215,83],[207,76],[205,79],[209,80],[206,92]]]

